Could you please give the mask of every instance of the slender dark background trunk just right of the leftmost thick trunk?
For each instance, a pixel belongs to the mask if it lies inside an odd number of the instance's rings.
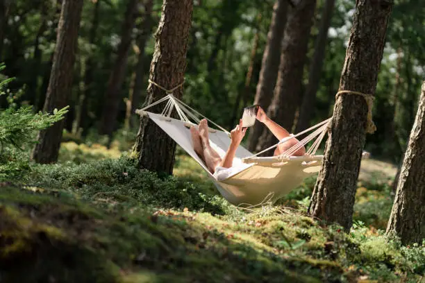
[[[97,0],[96,3],[94,3],[93,7],[93,22],[92,26],[90,27],[90,33],[89,33],[89,44],[93,45],[96,42],[96,35],[97,35],[97,29],[99,28],[99,11],[100,11],[100,3],[101,0]],[[81,97],[79,99],[80,109],[78,111],[77,117],[76,117],[76,131],[83,133],[87,131],[87,125],[88,125],[88,98],[92,96],[93,92],[93,74],[95,69],[95,62],[93,60],[92,55],[88,55],[88,58],[85,60],[85,63],[83,64],[85,71],[84,71],[84,78],[83,78],[83,92],[81,93]]]

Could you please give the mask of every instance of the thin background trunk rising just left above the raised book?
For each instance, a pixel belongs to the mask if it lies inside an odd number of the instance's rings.
[[[260,15],[258,16],[259,18],[261,17]],[[247,106],[247,100],[248,100],[248,96],[249,96],[249,87],[251,86],[251,78],[252,78],[252,73],[253,73],[253,67],[254,67],[254,63],[256,60],[256,54],[257,54],[257,49],[258,49],[258,41],[260,40],[260,28],[257,28],[256,34],[254,35],[253,38],[253,46],[251,49],[251,56],[249,59],[249,65],[248,65],[248,71],[247,71],[247,76],[245,76],[245,85],[244,85],[244,89],[242,92],[238,92],[238,96],[236,96],[236,100],[235,100],[235,106],[233,108],[233,115],[231,118],[231,121],[229,123],[229,126],[232,127],[235,123],[235,120],[237,119],[236,117],[238,116],[238,114],[240,114],[240,102],[242,101],[242,105]]]

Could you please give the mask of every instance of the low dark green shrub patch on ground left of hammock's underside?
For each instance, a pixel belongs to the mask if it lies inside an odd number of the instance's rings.
[[[224,214],[225,200],[202,194],[196,185],[173,176],[158,178],[140,171],[126,157],[85,164],[37,165],[24,180],[33,186],[74,191],[88,200],[109,205],[142,205]]]

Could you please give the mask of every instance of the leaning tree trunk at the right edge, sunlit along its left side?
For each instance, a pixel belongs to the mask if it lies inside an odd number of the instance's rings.
[[[425,239],[425,83],[419,98],[415,123],[403,160],[387,234],[401,242],[422,243]]]

